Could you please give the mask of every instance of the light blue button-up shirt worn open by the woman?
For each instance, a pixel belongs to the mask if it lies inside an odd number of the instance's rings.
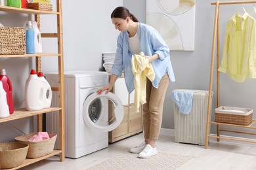
[[[168,73],[172,82],[175,82],[173,67],[169,56],[169,48],[158,31],[150,25],[140,23],[137,34],[140,40],[140,51],[144,52],[145,56],[153,56],[154,54],[158,54],[159,56],[158,59],[152,61],[152,66],[156,74],[152,85],[158,88],[158,84],[165,73]],[[131,93],[135,87],[134,77],[131,71],[131,57],[133,53],[129,50],[128,38],[129,35],[127,31],[121,32],[117,38],[117,50],[112,74],[121,76],[123,72],[127,90]]]

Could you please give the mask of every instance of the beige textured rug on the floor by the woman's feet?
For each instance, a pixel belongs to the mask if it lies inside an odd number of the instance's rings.
[[[137,158],[138,154],[131,154],[129,152],[110,158],[89,170],[97,169],[176,169],[184,164],[186,161],[195,158],[195,156],[187,156],[182,154],[170,154],[167,152],[160,152],[156,156],[147,159]]]

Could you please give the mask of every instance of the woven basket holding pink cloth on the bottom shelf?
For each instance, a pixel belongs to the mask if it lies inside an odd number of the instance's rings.
[[[30,142],[28,139],[33,137],[36,133],[30,133],[28,135],[22,135],[15,137],[14,141],[18,143],[26,143],[30,145],[28,148],[27,158],[39,158],[53,152],[54,144],[56,141],[56,134],[49,134],[50,139],[46,139],[38,142]]]

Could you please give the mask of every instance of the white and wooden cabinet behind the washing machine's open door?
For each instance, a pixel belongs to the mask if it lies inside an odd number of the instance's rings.
[[[123,122],[108,133],[108,141],[114,143],[125,137],[135,135],[142,132],[142,109],[140,107],[139,112],[135,112],[134,105],[134,92],[129,94],[125,87],[125,80],[123,77],[117,78],[112,93],[115,93],[123,103],[124,116]],[[109,105],[109,114],[113,115],[113,106]],[[112,117],[112,116],[110,116]]]

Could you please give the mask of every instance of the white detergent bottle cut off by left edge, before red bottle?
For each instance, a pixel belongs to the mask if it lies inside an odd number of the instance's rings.
[[[7,104],[7,93],[3,89],[3,83],[0,81],[0,118],[8,116],[10,116],[10,112]]]

